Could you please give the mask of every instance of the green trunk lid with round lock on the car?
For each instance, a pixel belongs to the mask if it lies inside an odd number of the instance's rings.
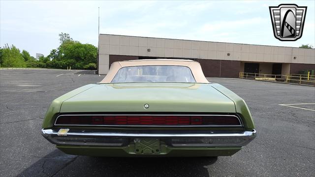
[[[95,84],[63,101],[61,112],[235,113],[235,105],[211,84]]]

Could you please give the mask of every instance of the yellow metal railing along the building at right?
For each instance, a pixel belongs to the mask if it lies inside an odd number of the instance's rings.
[[[310,72],[307,75],[303,74],[282,75],[240,72],[239,78],[315,86],[315,75],[310,75]]]

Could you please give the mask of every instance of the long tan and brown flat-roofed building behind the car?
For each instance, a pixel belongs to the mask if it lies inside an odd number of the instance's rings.
[[[193,59],[206,77],[238,77],[239,72],[298,73],[315,69],[315,49],[100,34],[98,73],[129,59]]]

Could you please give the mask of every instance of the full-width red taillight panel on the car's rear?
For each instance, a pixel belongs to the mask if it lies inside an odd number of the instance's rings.
[[[236,116],[176,116],[176,115],[128,115],[89,116],[62,115],[56,125],[241,125]]]

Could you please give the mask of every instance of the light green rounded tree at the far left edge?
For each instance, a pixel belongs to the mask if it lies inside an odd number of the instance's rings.
[[[11,47],[7,44],[1,49],[1,66],[2,67],[26,67],[20,50],[14,45]]]

